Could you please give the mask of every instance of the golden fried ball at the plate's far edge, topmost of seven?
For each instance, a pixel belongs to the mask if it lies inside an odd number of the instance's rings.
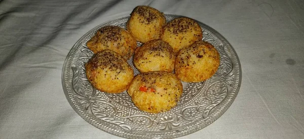
[[[166,18],[160,11],[148,6],[138,6],[131,13],[127,30],[136,41],[146,43],[159,39],[165,24]]]

